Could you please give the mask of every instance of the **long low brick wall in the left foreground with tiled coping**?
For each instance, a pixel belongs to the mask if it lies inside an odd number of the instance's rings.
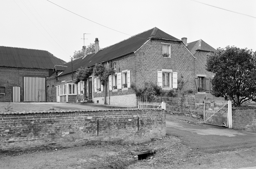
[[[136,143],[165,134],[163,109],[0,112],[0,152],[101,141]]]

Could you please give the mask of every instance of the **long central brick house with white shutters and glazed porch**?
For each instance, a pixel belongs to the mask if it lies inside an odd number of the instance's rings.
[[[108,104],[135,106],[137,99],[131,84],[142,88],[152,82],[169,91],[176,89],[178,79],[183,78],[186,90],[195,88],[195,57],[181,40],[155,27],[101,50],[96,38],[95,53],[63,64],[65,70],[55,69],[56,73],[47,78],[47,86],[53,86],[52,91],[47,91],[47,101],[73,102],[83,98],[85,92],[95,103],[103,104],[103,86],[97,77],[92,75],[76,84],[72,75],[72,70],[93,67],[95,63],[111,66],[115,71],[107,85]]]

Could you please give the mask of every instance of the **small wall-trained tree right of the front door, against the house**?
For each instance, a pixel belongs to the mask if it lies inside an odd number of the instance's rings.
[[[106,101],[106,96],[107,96],[107,82],[108,82],[108,77],[109,75],[113,75],[114,74],[114,69],[113,68],[105,68],[102,64],[95,64],[94,68],[93,68],[93,74],[96,77],[99,77],[101,85],[104,86],[104,104],[107,104]]]

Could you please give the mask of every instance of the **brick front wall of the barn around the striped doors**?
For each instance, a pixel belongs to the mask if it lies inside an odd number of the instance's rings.
[[[0,96],[0,102],[12,101],[12,86],[20,86],[20,100],[23,101],[22,78],[26,75],[49,76],[49,70],[33,68],[0,67],[0,86],[5,87],[5,96]]]

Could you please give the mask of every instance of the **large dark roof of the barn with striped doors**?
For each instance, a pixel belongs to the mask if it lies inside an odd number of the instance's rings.
[[[53,69],[65,61],[48,51],[0,46],[0,66]]]

